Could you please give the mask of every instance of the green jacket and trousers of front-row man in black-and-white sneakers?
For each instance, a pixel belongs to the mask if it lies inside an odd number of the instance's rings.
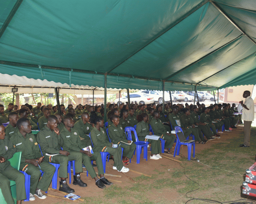
[[[17,149],[17,152],[22,152],[19,170],[25,171],[30,175],[30,193],[34,194],[35,189],[39,188],[43,191],[47,191],[49,185],[52,182],[55,167],[48,162],[42,162],[40,167],[36,167],[33,164],[26,163],[25,159],[36,159],[42,157],[38,143],[35,140],[33,134],[26,134],[24,138],[20,132],[14,134],[11,139],[12,143]],[[42,178],[41,171],[44,172]]]

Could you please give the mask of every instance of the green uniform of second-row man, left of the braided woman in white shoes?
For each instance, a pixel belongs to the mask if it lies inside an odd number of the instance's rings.
[[[93,126],[91,126],[90,123],[85,123],[83,122],[82,119],[80,119],[79,121],[77,121],[74,125],[74,129],[76,129],[79,132],[79,136],[84,138],[81,140],[82,144],[85,147],[88,147],[91,145],[91,139],[89,137],[89,134],[91,132],[91,130],[93,130]]]

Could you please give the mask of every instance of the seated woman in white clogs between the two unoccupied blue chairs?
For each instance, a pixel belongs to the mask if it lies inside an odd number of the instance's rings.
[[[136,133],[138,136],[138,139],[140,141],[145,141],[151,143],[151,156],[150,159],[161,159],[160,156],[161,153],[161,144],[160,140],[153,140],[153,139],[146,139],[145,137],[147,135],[153,135],[152,132],[148,129],[148,115],[146,113],[142,113],[141,115],[137,116],[138,124],[136,126]]]

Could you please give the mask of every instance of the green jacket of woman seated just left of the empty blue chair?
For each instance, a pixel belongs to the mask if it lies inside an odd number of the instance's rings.
[[[128,140],[126,138],[125,131],[120,124],[118,124],[117,126],[115,126],[115,125],[110,126],[109,137],[112,139],[111,142],[114,144],[117,144],[121,140],[123,142],[128,142]]]

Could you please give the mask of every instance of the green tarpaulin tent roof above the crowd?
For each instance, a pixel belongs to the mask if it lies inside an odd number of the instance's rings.
[[[256,1],[6,0],[0,73],[75,85],[256,84]],[[7,79],[6,79],[7,80]]]

